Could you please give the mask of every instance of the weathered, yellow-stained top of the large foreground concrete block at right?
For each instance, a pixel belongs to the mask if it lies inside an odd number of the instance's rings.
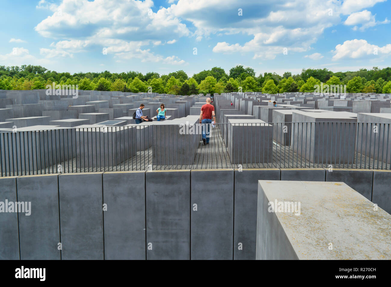
[[[343,182],[258,184],[268,202],[300,202],[298,216],[275,213],[299,259],[391,259],[391,215]]]

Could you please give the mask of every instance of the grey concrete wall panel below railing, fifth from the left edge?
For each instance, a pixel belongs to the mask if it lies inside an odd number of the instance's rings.
[[[147,171],[145,199],[147,259],[190,259],[190,171]]]

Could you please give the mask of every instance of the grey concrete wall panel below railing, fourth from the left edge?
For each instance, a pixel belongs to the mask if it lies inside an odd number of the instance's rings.
[[[145,172],[103,173],[105,259],[145,260]]]

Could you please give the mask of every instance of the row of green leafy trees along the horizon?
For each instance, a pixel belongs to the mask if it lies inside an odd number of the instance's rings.
[[[359,71],[332,72],[328,69],[303,69],[300,74],[285,72],[255,75],[253,68],[235,66],[226,73],[224,69],[213,67],[189,77],[183,70],[160,75],[138,71],[122,73],[88,72],[58,73],[41,66],[23,65],[0,66],[0,89],[32,90],[45,89],[52,83],[78,85],[82,90],[147,92],[166,94],[207,94],[230,92],[262,92],[268,94],[287,92],[314,92],[314,86],[346,85],[348,93],[391,93],[391,68]]]

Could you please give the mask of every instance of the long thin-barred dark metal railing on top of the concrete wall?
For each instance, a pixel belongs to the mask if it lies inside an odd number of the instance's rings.
[[[390,169],[389,128],[385,123],[239,120],[216,125],[167,121],[124,127],[23,128],[0,133],[0,175],[210,168]],[[203,129],[208,144],[202,141]]]

